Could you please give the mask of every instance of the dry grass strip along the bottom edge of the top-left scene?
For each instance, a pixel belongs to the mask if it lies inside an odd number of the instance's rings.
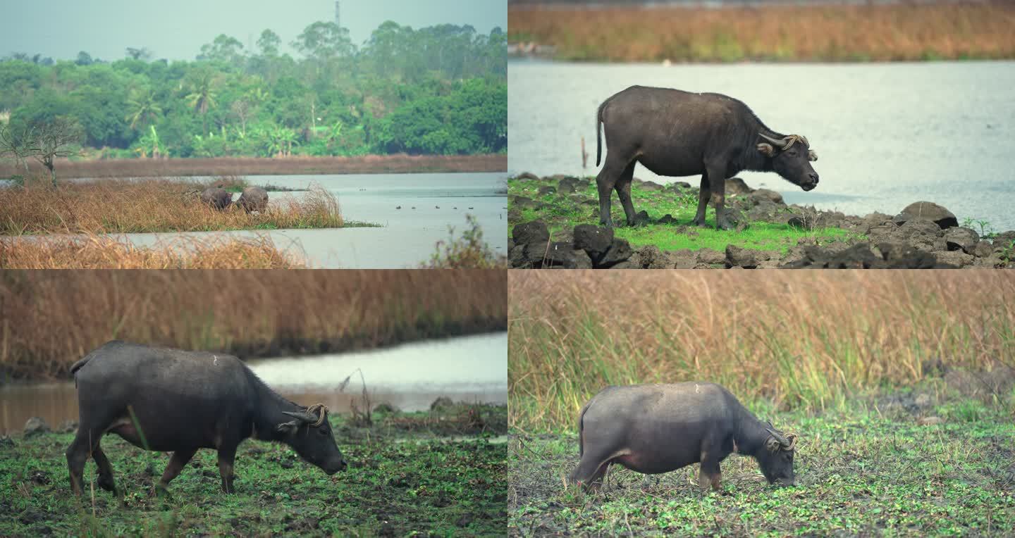
[[[255,238],[179,237],[154,247],[97,235],[0,237],[0,270],[306,267],[303,256],[279,250],[267,234]]]

